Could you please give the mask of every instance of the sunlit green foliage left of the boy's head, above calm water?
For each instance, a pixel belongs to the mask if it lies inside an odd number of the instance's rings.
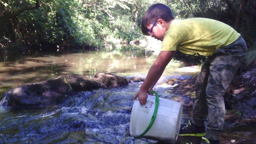
[[[1,0],[0,43],[64,47],[101,47],[104,42],[116,43],[140,37],[142,15],[135,0]],[[145,1],[144,1],[145,2]],[[144,4],[144,3],[143,3]],[[144,6],[147,8],[149,5]],[[33,9],[29,9],[32,8]],[[19,11],[23,9],[24,11]],[[142,10],[143,11],[143,10]],[[17,15],[14,13],[19,12]],[[12,26],[10,26],[12,25]],[[58,45],[58,47],[57,47]]]

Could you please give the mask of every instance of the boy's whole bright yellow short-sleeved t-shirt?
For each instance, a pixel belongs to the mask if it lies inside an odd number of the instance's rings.
[[[184,54],[209,56],[239,36],[231,26],[214,19],[174,19],[164,35],[161,51],[179,50]]]

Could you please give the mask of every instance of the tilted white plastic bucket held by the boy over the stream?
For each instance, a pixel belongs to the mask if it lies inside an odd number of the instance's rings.
[[[155,97],[148,95],[147,102],[141,105],[139,100],[134,101],[131,118],[130,134],[138,136],[147,129],[155,108]],[[159,97],[156,119],[150,130],[142,136],[143,138],[175,143],[178,135],[182,117],[182,103]]]

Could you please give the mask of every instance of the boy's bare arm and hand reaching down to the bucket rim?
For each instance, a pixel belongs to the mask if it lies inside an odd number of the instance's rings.
[[[140,100],[141,104],[145,104],[147,101],[147,92],[150,88],[153,88],[153,86],[157,83],[158,79],[163,74],[163,71],[170,62],[170,60],[175,55],[176,51],[161,51],[156,59],[156,61],[153,63],[153,65],[150,67],[147,77],[145,81],[143,82],[140,90],[135,95],[134,99],[137,97]]]

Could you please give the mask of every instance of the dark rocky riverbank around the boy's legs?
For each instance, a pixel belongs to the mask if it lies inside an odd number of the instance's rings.
[[[224,95],[226,115],[223,131],[220,134],[221,144],[256,143],[255,76],[256,61],[249,66],[243,65],[227,88]],[[193,77],[182,81],[178,86],[168,90],[170,96],[166,98],[182,102],[184,110],[191,113],[195,98],[195,79],[196,77]],[[200,140],[200,138],[180,136],[178,143],[199,143]]]

